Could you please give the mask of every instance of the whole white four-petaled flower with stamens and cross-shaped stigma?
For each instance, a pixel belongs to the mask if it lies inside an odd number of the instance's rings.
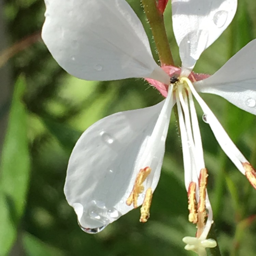
[[[147,220],[160,176],[171,110],[177,103],[189,220],[198,227],[197,238],[184,238],[188,243],[185,248],[204,255],[205,247],[216,243],[207,240],[212,209],[193,96],[224,152],[256,185],[254,169],[198,95],[217,94],[256,114],[256,63],[252,55],[256,41],[209,78],[193,83],[187,78],[204,49],[230,24],[237,0],[172,0],[173,30],[182,60],[180,76],[172,83],[164,68],[154,61],[143,26],[125,0],[45,3],[42,38],[67,72],[99,81],[144,77],[158,89],[168,88],[166,99],[157,105],[107,116],[89,127],[77,141],[64,190],[81,227],[89,233],[99,232],[141,204],[140,221]],[[189,77],[193,80],[194,76]]]

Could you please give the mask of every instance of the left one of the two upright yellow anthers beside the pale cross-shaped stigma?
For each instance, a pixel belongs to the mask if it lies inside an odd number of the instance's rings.
[[[196,183],[190,182],[188,187],[188,220],[196,224],[198,222],[197,216],[197,200],[196,200]]]

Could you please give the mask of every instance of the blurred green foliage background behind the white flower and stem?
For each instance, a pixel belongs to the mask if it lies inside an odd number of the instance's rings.
[[[140,1],[128,2],[142,20],[155,54]],[[186,252],[182,242],[184,236],[194,236],[196,228],[187,220],[181,140],[174,115],[149,221],[139,223],[136,209],[95,235],[77,225],[63,194],[76,140],[100,118],[151,106],[162,97],[140,79],[101,83],[68,75],[40,39],[44,11],[43,0],[0,0],[0,256],[195,255]],[[214,73],[254,39],[255,12],[255,0],[240,0],[233,22],[202,54],[195,71]],[[165,23],[175,64],[180,65],[171,3]],[[256,166],[255,116],[218,96],[202,97]],[[256,191],[222,152],[197,109],[222,255],[255,256]]]

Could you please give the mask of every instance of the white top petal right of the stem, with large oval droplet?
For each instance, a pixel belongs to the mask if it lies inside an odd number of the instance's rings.
[[[237,0],[172,0],[173,31],[183,71],[193,69],[201,53],[230,24],[236,10]]]

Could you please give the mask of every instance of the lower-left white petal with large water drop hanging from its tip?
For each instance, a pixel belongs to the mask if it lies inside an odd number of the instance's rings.
[[[170,93],[152,107],[105,117],[82,134],[69,159],[64,191],[83,227],[107,225],[133,209],[125,201],[140,169],[152,168],[145,187],[156,188],[172,105]],[[142,201],[140,196],[138,205]]]

